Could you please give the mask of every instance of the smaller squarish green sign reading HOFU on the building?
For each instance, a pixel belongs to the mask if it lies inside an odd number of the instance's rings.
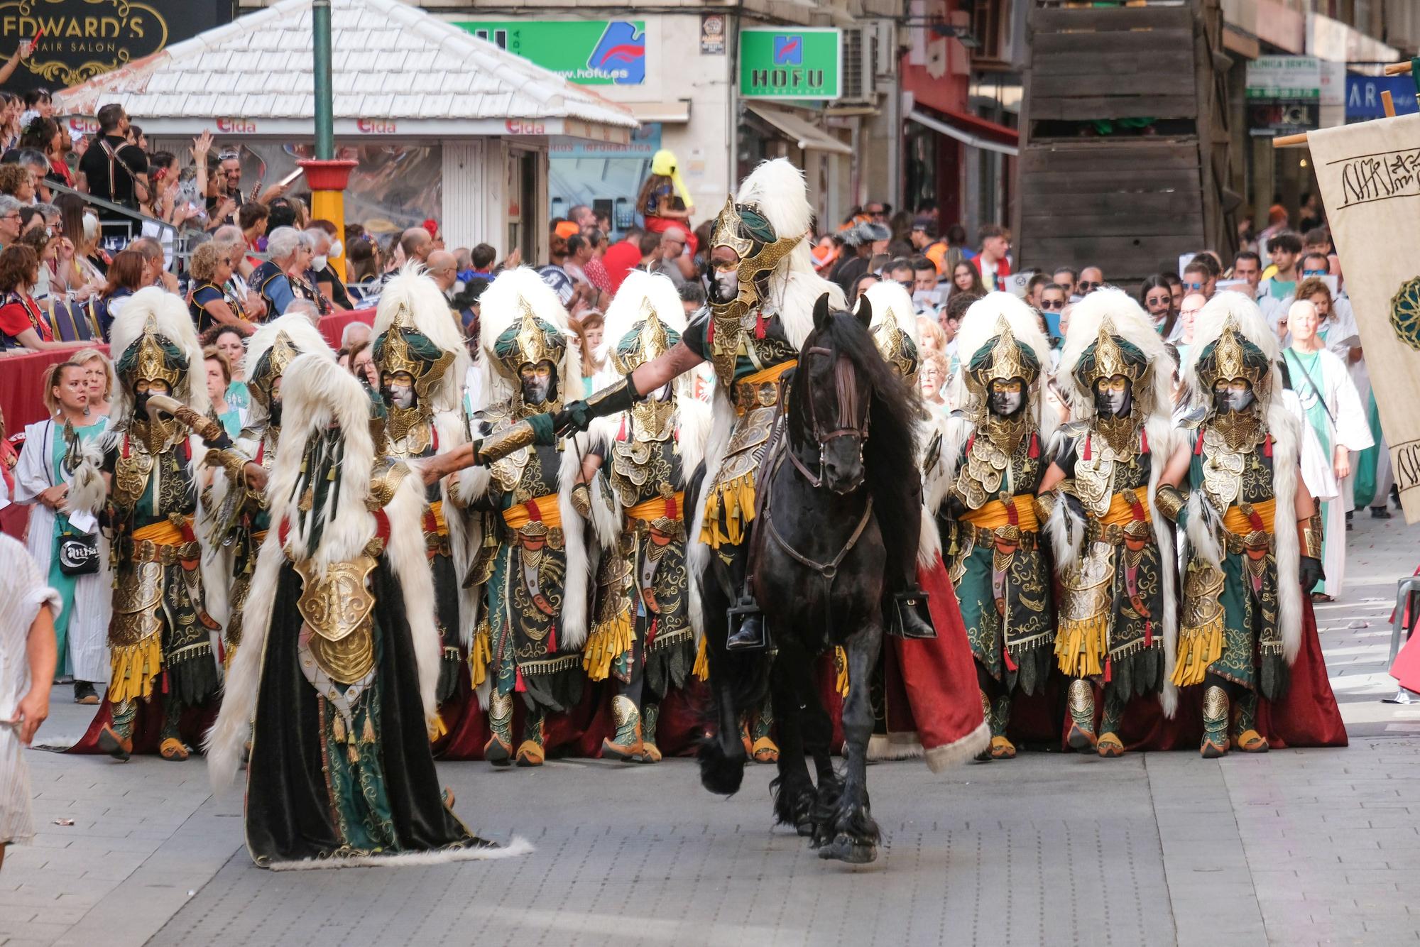
[[[836,99],[842,92],[843,37],[822,27],[743,27],[741,98]]]

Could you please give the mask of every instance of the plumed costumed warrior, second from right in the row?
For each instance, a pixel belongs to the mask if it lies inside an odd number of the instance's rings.
[[[1173,527],[1156,491],[1169,461],[1173,372],[1163,339],[1122,290],[1091,292],[1071,312],[1056,378],[1074,420],[1041,480],[1059,578],[1055,657],[1069,679],[1066,741],[1119,757],[1125,708],[1173,673],[1177,606]],[[1096,687],[1103,716],[1096,731]],[[1098,734],[1098,737],[1096,737]]]

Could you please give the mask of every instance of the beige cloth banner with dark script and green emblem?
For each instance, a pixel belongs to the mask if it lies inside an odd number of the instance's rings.
[[[1420,521],[1420,115],[1306,133],[1406,522]],[[1386,379],[1384,383],[1379,383]]]

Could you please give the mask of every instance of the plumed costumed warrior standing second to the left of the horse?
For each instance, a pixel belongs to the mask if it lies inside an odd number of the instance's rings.
[[[572,488],[585,451],[551,436],[534,446],[521,422],[561,410],[581,393],[582,375],[568,345],[567,310],[535,271],[506,270],[480,304],[483,403],[473,434],[517,449],[460,474],[459,498],[480,514],[464,584],[483,596],[483,619],[469,660],[488,710],[483,758],[537,767],[547,757],[547,714],[581,700],[591,566],[582,530],[564,528],[579,522]],[[449,463],[454,470],[469,450],[443,453],[425,469]],[[515,697],[525,714],[514,751]]]

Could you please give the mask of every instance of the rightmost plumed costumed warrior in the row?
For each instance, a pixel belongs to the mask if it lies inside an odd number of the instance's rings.
[[[1322,578],[1322,517],[1301,477],[1301,426],[1282,400],[1277,334],[1261,310],[1220,292],[1193,339],[1189,440],[1159,487],[1187,540],[1173,683],[1203,684],[1204,757],[1230,745],[1265,752],[1258,697],[1275,703],[1291,684],[1302,589]]]

